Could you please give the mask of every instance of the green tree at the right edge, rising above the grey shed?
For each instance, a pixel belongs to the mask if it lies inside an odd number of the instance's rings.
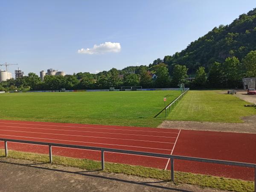
[[[256,77],[256,50],[250,51],[242,60],[247,77]]]

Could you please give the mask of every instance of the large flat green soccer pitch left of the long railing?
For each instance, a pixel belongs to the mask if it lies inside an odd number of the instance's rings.
[[[168,96],[167,96],[168,95]],[[0,119],[157,127],[178,90],[0,94]]]

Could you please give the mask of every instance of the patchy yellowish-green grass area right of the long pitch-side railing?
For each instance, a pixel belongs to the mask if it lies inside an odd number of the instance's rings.
[[[256,109],[234,95],[217,90],[190,90],[172,109],[167,119],[199,122],[243,122],[242,116],[256,115]]]

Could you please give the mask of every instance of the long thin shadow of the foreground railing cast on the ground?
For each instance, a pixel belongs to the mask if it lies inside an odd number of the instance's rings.
[[[0,156],[3,157],[3,156]],[[55,172],[63,172],[63,173],[69,173],[69,174],[76,174],[76,175],[83,175],[87,177],[96,177],[96,178],[102,178],[102,179],[107,179],[107,180],[115,180],[119,182],[124,182],[124,183],[131,183],[131,184],[137,184],[137,185],[143,185],[143,186],[149,186],[149,187],[155,187],[159,189],[168,189],[172,191],[177,191],[177,192],[192,192],[188,190],[182,190],[182,189],[175,189],[171,187],[166,187],[166,186],[159,186],[159,185],[154,185],[157,183],[166,183],[166,181],[152,181],[152,182],[139,182],[139,181],[130,181],[130,180],[123,180],[119,178],[113,178],[113,177],[105,177],[102,175],[92,175],[92,174],[86,174],[87,172],[97,172],[100,170],[93,170],[93,171],[81,171],[81,172],[71,172],[71,171],[66,171],[66,170],[61,170],[61,169],[53,169],[53,168],[47,168],[47,167],[41,167],[41,166],[35,166],[35,165],[41,165],[41,164],[47,164],[47,163],[34,163],[34,164],[23,164],[23,163],[13,163],[13,162],[6,162],[3,160],[0,160],[0,163],[6,163],[6,164],[12,164],[12,165],[17,165],[17,166],[28,166],[36,169],[44,169],[44,170],[49,170],[49,171],[55,171]]]

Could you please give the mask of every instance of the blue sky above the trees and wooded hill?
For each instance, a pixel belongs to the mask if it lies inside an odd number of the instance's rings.
[[[0,64],[39,75],[48,68],[73,74],[148,65],[231,23],[256,1],[8,0],[0,7]]]

